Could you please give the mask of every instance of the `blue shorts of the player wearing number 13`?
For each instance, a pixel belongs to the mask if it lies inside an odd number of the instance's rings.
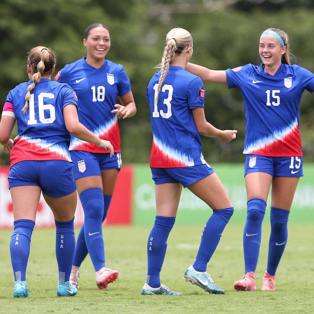
[[[155,184],[163,183],[181,183],[183,187],[209,176],[214,173],[213,168],[208,164],[178,167],[178,168],[150,168],[153,174]]]

